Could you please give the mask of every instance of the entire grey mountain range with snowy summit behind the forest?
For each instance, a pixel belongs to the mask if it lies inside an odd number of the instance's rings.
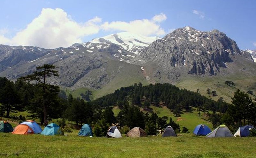
[[[251,55],[218,30],[203,32],[187,26],[162,39],[123,32],[68,48],[0,45],[0,76],[15,80],[37,66],[54,64],[60,76],[50,78],[50,83],[71,90],[95,90],[103,96],[138,82],[191,86],[185,82],[204,77],[203,85],[207,85],[206,77],[217,76],[224,83],[225,79],[235,81],[232,75],[241,82],[256,75]],[[241,83],[255,87],[251,80]],[[196,86],[186,88],[194,91]]]

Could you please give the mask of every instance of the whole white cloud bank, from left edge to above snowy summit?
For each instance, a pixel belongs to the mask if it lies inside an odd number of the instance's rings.
[[[100,30],[127,31],[145,36],[163,35],[165,31],[160,22],[166,19],[166,15],[161,13],[152,19],[130,22],[102,22],[102,19],[96,16],[85,23],[77,23],[63,9],[44,8],[38,17],[18,31],[13,38],[5,37],[5,30],[0,31],[0,43],[44,48],[68,47],[73,43],[83,42],[83,37],[97,34]]]

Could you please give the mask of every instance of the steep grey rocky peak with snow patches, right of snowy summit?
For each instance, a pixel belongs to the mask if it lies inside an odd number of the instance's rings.
[[[187,26],[151,43],[135,63],[155,62],[165,70],[176,68],[189,74],[215,75],[232,62],[230,56],[234,54],[242,55],[236,42],[224,33],[202,32]]]

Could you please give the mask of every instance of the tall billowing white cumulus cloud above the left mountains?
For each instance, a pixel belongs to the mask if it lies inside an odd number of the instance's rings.
[[[44,48],[68,47],[81,43],[81,38],[99,31],[96,23],[101,19],[95,17],[84,24],[72,21],[60,8],[46,8],[24,30],[12,39],[13,45],[33,45]]]

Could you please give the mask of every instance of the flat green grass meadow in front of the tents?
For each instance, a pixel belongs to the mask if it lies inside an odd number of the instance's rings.
[[[236,158],[255,157],[255,137],[212,138],[183,134],[178,137],[141,138],[14,135],[0,133],[2,158]]]

